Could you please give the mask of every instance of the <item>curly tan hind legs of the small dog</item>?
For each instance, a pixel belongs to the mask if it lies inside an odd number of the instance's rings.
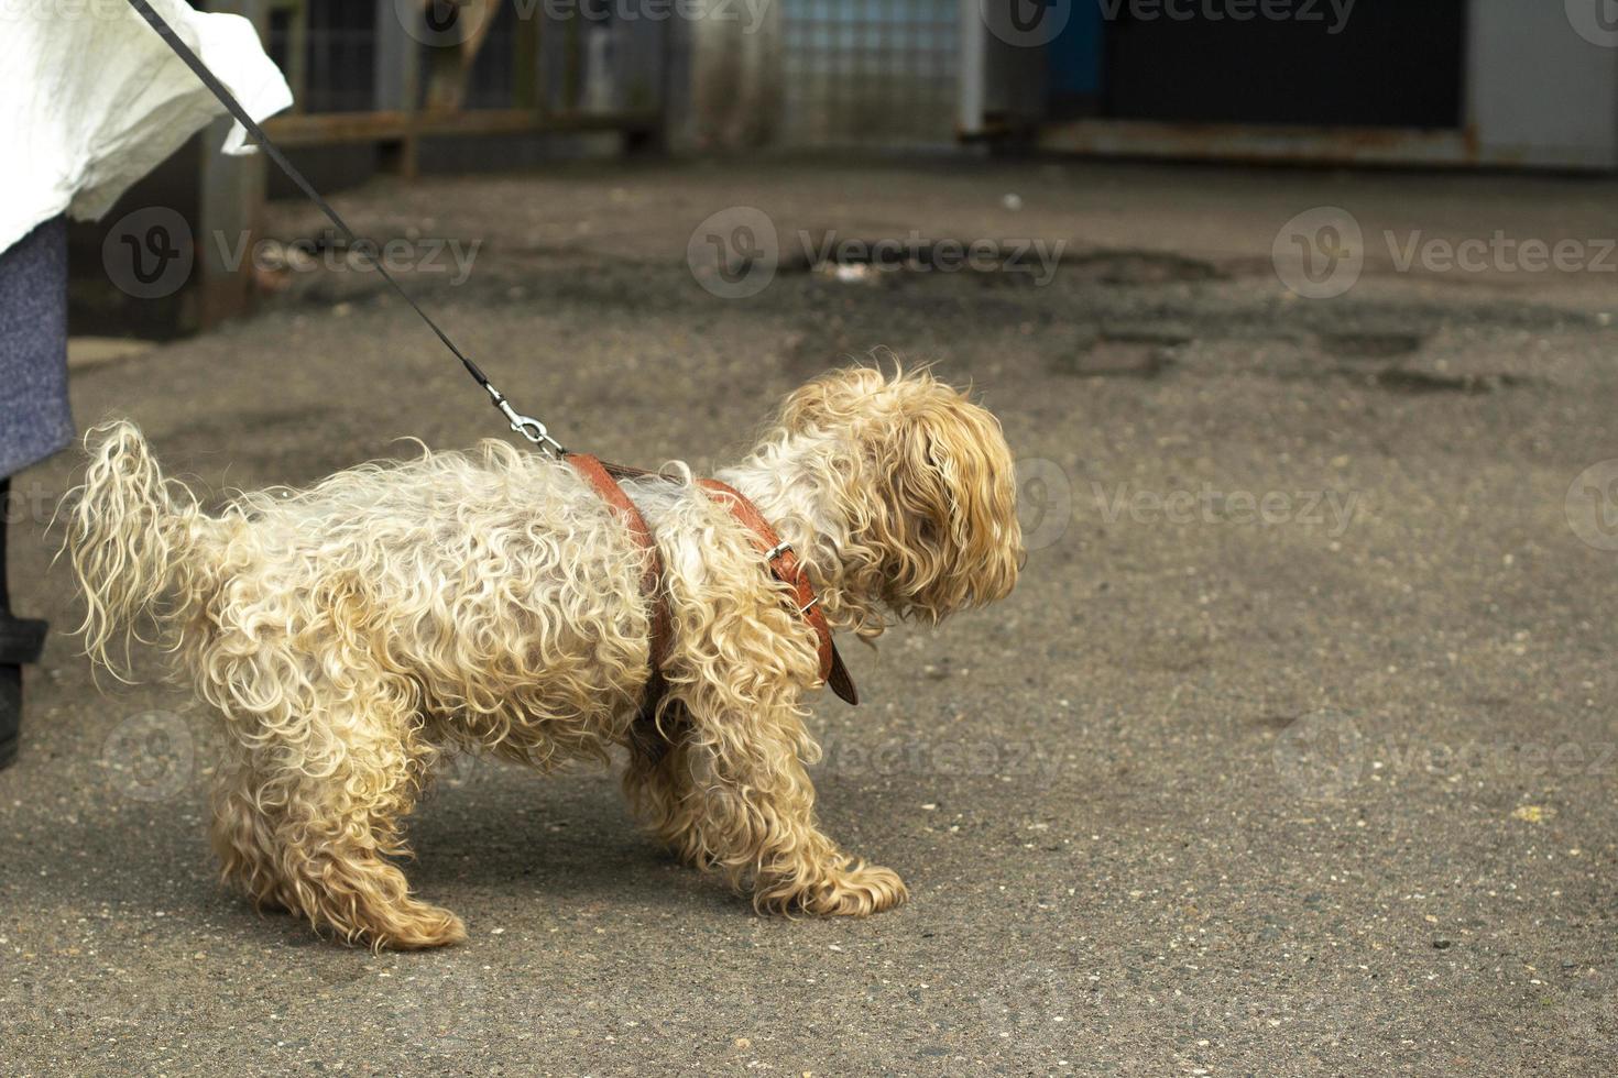
[[[349,942],[414,950],[466,939],[461,920],[411,897],[387,857],[430,748],[385,697],[239,743],[220,769],[214,847],[225,876],[260,905],[299,913]]]

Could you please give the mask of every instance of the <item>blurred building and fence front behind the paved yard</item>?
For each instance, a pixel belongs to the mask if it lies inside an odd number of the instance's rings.
[[[587,154],[1055,152],[1618,168],[1605,0],[218,0],[252,18],[317,184]],[[207,141],[131,191],[196,234],[291,194]],[[94,263],[105,228],[76,233]],[[81,317],[170,335],[251,302],[197,284]],[[84,259],[79,259],[84,262]],[[136,325],[131,325],[134,320]]]

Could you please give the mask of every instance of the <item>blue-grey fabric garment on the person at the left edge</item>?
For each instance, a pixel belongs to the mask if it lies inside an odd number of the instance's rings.
[[[0,252],[0,477],[73,441],[68,411],[68,223]]]

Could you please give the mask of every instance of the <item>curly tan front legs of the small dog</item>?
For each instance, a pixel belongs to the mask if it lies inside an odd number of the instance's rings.
[[[657,834],[699,868],[751,882],[777,913],[866,916],[904,902],[898,874],[838,850],[814,818],[791,708],[738,714],[697,701],[659,760],[631,758],[625,792]]]

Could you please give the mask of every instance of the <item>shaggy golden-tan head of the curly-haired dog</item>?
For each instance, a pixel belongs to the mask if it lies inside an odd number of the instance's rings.
[[[1000,422],[964,393],[925,370],[888,378],[853,367],[793,393],[781,423],[849,448],[840,499],[851,600],[938,622],[1016,585],[1011,449]]]

